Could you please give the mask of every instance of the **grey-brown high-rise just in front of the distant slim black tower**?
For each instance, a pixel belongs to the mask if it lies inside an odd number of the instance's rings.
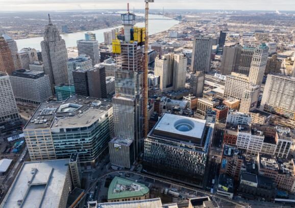
[[[230,75],[232,72],[238,71],[241,52],[242,47],[239,44],[224,48],[220,67],[222,75]]]

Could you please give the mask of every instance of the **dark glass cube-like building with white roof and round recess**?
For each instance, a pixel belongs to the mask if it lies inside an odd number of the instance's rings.
[[[144,169],[203,187],[213,128],[205,120],[164,114],[144,140]]]

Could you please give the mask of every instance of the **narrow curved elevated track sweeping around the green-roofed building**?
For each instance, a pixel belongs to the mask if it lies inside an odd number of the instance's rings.
[[[169,183],[169,184],[174,184],[175,186],[178,186],[178,187],[181,187],[181,188],[185,188],[185,189],[188,189],[188,190],[192,190],[192,191],[195,191],[195,192],[200,192],[200,193],[203,193],[203,194],[206,194],[208,196],[213,196],[213,197],[216,197],[216,198],[219,198],[219,199],[222,199],[224,201],[227,201],[227,202],[230,202],[230,203],[233,203],[233,204],[236,204],[236,205],[239,205],[240,207],[245,207],[245,208],[248,208],[250,207],[249,205],[246,205],[246,204],[243,204],[243,203],[239,203],[237,201],[234,201],[234,200],[231,200],[231,199],[228,199],[226,197],[223,197],[223,196],[219,196],[219,195],[216,195],[216,194],[212,194],[210,192],[207,192],[207,191],[204,191],[202,189],[198,189],[198,188],[193,188],[193,187],[190,187],[190,186],[187,186],[183,183],[179,183],[179,182],[175,182],[175,181],[171,181],[171,180],[168,180],[168,179],[163,179],[163,178],[160,178],[160,177],[156,177],[156,176],[151,176],[151,175],[148,175],[148,174],[145,174],[145,173],[139,173],[139,172],[135,172],[135,171],[130,171],[130,170],[116,170],[116,171],[110,171],[108,173],[105,173],[103,175],[101,175],[100,177],[97,177],[91,184],[90,184],[90,187],[85,190],[83,192],[83,194],[81,195],[80,198],[78,198],[75,202],[73,202],[72,205],[69,206],[69,208],[75,208],[79,205],[79,203],[83,200],[83,198],[90,192],[90,190],[95,186],[96,182],[103,179],[104,177],[108,176],[108,175],[111,175],[111,174],[114,174],[114,173],[119,173],[119,172],[125,172],[125,173],[130,173],[130,174],[137,174],[137,175],[140,175],[142,177],[146,177],[146,178],[151,178],[151,179],[154,179],[154,180],[158,180],[158,181],[161,181],[161,182],[165,182],[165,183]]]

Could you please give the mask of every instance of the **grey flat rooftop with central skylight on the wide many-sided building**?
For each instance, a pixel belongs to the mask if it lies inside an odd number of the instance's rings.
[[[77,95],[62,102],[43,102],[24,129],[90,126],[111,107],[111,100]]]

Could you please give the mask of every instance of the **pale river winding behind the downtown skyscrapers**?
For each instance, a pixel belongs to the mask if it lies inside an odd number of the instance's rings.
[[[138,16],[144,16],[144,14],[136,14]],[[163,19],[164,18],[164,19]],[[167,20],[169,18],[163,17],[162,15],[149,15],[149,34],[153,35],[179,24],[178,20]],[[138,22],[136,24],[138,27],[144,27],[144,22]],[[113,28],[105,28],[101,30],[94,30],[94,31],[85,31],[85,32],[78,32],[78,33],[69,33],[69,34],[62,34],[61,37],[65,40],[65,44],[67,48],[70,47],[77,47],[77,40],[84,39],[84,34],[86,32],[92,32],[96,34],[96,40],[99,42],[104,42],[104,32],[110,31]],[[45,30],[45,29],[44,29]],[[36,50],[41,51],[40,42],[43,40],[43,37],[34,37],[34,38],[25,38],[15,40],[17,43],[18,50],[22,48],[34,48]]]

